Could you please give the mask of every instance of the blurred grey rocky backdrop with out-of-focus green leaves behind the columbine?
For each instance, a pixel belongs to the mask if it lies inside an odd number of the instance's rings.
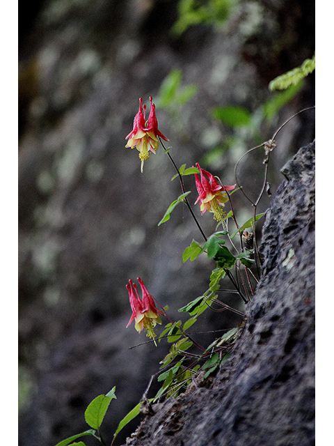
[[[125,148],[138,98],[149,105],[152,95],[177,166],[200,162],[234,184],[248,148],[315,105],[314,73],[287,91],[268,89],[314,52],[310,0],[40,0],[20,8],[20,446],[54,446],[85,431],[88,403],[116,385],[102,425],[109,444],[140,400],[168,345],[142,344],[144,333],[125,328],[129,279],[141,277],[175,321],[177,309],[208,288],[213,263],[205,256],[182,263],[191,240],[202,243],[186,207],[157,226],[182,193],[170,181],[170,160],[159,148],[141,174],[138,151]],[[314,137],[313,111],[278,134],[272,194],[285,162]],[[262,159],[254,151],[239,166],[250,197],[262,185]],[[185,183],[193,204],[193,176]],[[232,198],[242,224],[253,209],[240,192]],[[259,212],[269,202],[266,195]],[[212,233],[212,214],[193,209]],[[223,299],[242,309],[235,294]],[[196,326],[207,341],[215,337],[209,331],[241,321],[207,313]],[[158,388],[154,382],[149,397]]]

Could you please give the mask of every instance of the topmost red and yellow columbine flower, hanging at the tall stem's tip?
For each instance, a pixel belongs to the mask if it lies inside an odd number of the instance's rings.
[[[154,153],[159,147],[159,139],[161,137],[165,141],[169,141],[159,130],[157,116],[155,116],[155,105],[152,103],[152,97],[150,96],[150,115],[148,121],[145,122],[146,105],[142,106],[143,98],[139,98],[139,110],[136,116],[134,116],[134,128],[125,139],[127,145],[125,147],[131,147],[139,151],[139,158],[141,159],[141,171],[143,172],[144,161],[150,157],[150,151]]]

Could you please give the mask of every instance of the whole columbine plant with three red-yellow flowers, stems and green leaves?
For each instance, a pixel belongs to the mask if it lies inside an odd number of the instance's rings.
[[[294,114],[276,130],[271,139],[246,151],[239,158],[234,169],[236,183],[234,185],[224,185],[220,178],[202,169],[198,162],[189,168],[186,168],[186,164],[182,164],[180,168],[177,167],[173,157],[170,155],[171,148],[164,146],[163,141],[168,141],[168,138],[158,130],[155,105],[152,102],[152,97],[150,97],[150,114],[147,121],[145,121],[146,106],[143,105],[143,99],[139,99],[138,113],[134,117],[132,132],[126,137],[128,141],[125,147],[136,147],[139,151],[141,172],[143,173],[144,162],[149,159],[150,153],[156,153],[161,144],[176,170],[176,174],[172,180],[179,178],[182,191],[180,196],[170,203],[166,213],[157,224],[159,226],[168,222],[175,207],[180,203],[184,203],[189,209],[202,240],[200,243],[195,239],[192,240],[191,245],[186,247],[182,253],[182,261],[195,261],[198,256],[206,254],[208,259],[212,261],[214,268],[209,276],[207,291],[191,300],[191,302],[186,303],[186,305],[178,310],[182,314],[188,314],[188,318],[183,322],[181,320],[170,320],[167,312],[168,307],[162,307],[153,298],[140,277],[137,280],[141,288],[141,298],[138,294],[137,286],[132,279],[129,279],[129,284],[125,285],[129,293],[129,303],[132,309],[127,328],[134,321],[134,328],[138,331],[138,334],[141,334],[145,330],[150,341],[154,342],[155,346],[158,346],[162,341],[167,341],[170,344],[170,348],[168,354],[161,360],[161,367],[157,374],[151,376],[141,401],[118,424],[118,429],[114,433],[111,445],[116,440],[118,433],[134,417],[139,413],[150,413],[150,410],[152,410],[152,402],[159,401],[163,397],[176,397],[195,378],[206,380],[221,367],[223,362],[228,360],[232,346],[241,335],[244,327],[244,313],[240,309],[227,305],[219,298],[219,294],[222,291],[221,282],[224,278],[227,278],[232,284],[234,293],[239,296],[244,305],[250,301],[255,293],[255,287],[262,274],[260,254],[256,240],[256,224],[262,215],[264,215],[263,213],[257,213],[257,207],[264,193],[269,191],[268,166],[271,152],[277,146],[276,136],[278,132],[294,116],[312,108],[315,107],[308,107]],[[254,200],[248,197],[248,194],[242,187],[238,169],[241,161],[249,153],[260,149],[263,151],[263,183],[260,193]],[[184,176],[193,176],[198,192],[198,197],[193,202],[194,206],[199,206],[201,215],[207,212],[212,213],[216,221],[216,231],[209,236],[203,231],[189,203],[188,196],[191,191],[186,191],[184,187]],[[253,207],[253,217],[244,222],[244,224],[239,224],[237,221],[237,215],[232,203],[232,194],[238,191],[244,195]],[[233,231],[230,230],[230,221],[234,224]],[[199,344],[193,338],[193,325],[196,324],[201,314],[209,308],[215,312],[233,312],[240,316],[241,322],[230,330],[225,328],[218,330],[218,332],[223,331],[223,335],[216,337],[209,346],[206,346]],[[162,321],[166,319],[166,325],[159,334],[159,337],[157,337],[157,325],[162,325]],[[191,332],[189,332],[191,327]],[[148,399],[147,395],[150,390],[150,385],[156,377],[158,382],[161,383],[161,387],[154,397]],[[89,404],[85,413],[85,420],[91,429],[67,438],[56,446],[85,446],[83,441],[75,441],[83,436],[93,436],[103,446],[106,446],[100,427],[112,399],[116,399],[116,387],[113,387],[105,395],[99,395]]]

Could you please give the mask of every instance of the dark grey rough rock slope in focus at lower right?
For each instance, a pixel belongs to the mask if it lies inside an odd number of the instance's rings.
[[[282,171],[263,276],[229,360],[211,387],[153,406],[127,445],[315,444],[315,143]]]

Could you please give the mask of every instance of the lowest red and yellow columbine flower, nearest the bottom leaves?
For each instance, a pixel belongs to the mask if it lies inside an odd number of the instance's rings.
[[[137,280],[141,286],[141,293],[143,295],[143,300],[141,300],[138,296],[136,284],[134,284],[132,280],[129,279],[129,285],[127,285],[127,291],[129,291],[132,316],[129,320],[129,323],[127,324],[127,327],[129,327],[130,323],[132,323],[132,321],[135,319],[136,323],[134,325],[134,328],[136,328],[137,332],[141,333],[145,328],[145,330],[148,332],[148,337],[152,338],[154,341],[154,337],[156,335],[153,331],[153,328],[155,327],[155,325],[157,325],[157,323],[161,324],[161,318],[159,316],[159,313],[160,314],[163,313],[160,312],[159,309],[157,309],[157,307],[155,307],[152,295],[150,295],[148,290],[145,288],[145,285],[143,284],[141,278],[137,277]]]

